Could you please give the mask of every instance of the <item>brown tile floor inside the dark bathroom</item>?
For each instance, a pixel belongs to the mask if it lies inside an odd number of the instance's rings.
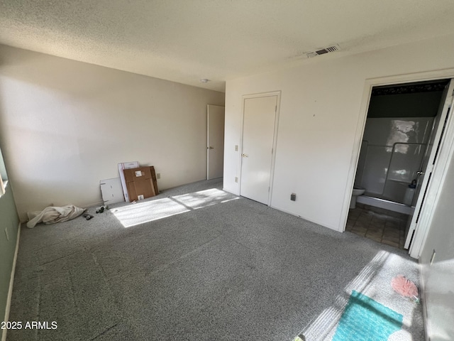
[[[357,204],[348,212],[345,231],[404,249],[407,218],[408,215],[401,213]]]

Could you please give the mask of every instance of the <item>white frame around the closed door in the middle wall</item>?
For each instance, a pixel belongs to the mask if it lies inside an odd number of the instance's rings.
[[[270,170],[270,193],[268,193],[268,201],[267,201],[267,206],[271,206],[271,199],[272,199],[272,185],[274,182],[275,178],[275,161],[276,161],[276,148],[277,148],[277,130],[279,126],[279,109],[280,109],[280,104],[281,104],[281,91],[272,91],[272,92],[260,92],[258,94],[243,94],[241,97],[241,136],[240,136],[240,146],[239,146],[239,151],[238,153],[238,158],[239,158],[239,169],[237,174],[238,176],[238,188],[239,192],[241,195],[241,177],[242,177],[242,169],[243,169],[243,157],[241,156],[243,154],[243,134],[244,134],[244,108],[245,108],[245,100],[250,99],[250,98],[260,98],[260,97],[272,97],[272,96],[277,96],[276,99],[276,112],[275,112],[275,130],[273,133],[273,138],[272,138],[272,154],[271,154],[271,170]]]

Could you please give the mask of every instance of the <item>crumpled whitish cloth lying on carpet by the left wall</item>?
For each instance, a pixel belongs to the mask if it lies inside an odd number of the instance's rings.
[[[44,224],[55,224],[56,222],[66,222],[67,220],[72,220],[82,213],[85,212],[85,209],[74,206],[66,205],[62,207],[45,207],[41,212],[28,212],[28,222],[27,227],[35,227],[36,224],[43,222]]]

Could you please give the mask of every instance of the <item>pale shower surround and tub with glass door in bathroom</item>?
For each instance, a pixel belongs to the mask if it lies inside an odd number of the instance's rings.
[[[433,117],[367,119],[355,178],[355,187],[366,191],[358,202],[411,212],[433,121]]]

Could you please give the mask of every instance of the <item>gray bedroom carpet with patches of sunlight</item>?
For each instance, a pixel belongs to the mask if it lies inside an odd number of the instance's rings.
[[[14,340],[330,340],[352,290],[404,315],[389,340],[423,340],[421,305],[392,291],[405,251],[333,232],[221,190],[166,190],[55,225],[21,229]]]

